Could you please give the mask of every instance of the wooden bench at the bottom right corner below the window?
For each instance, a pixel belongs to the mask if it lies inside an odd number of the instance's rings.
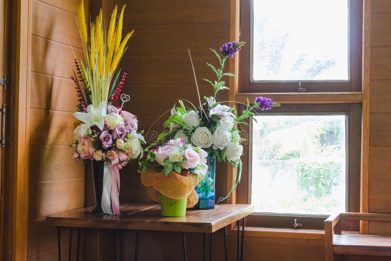
[[[325,220],[325,260],[340,261],[342,255],[391,257],[391,237],[342,233],[343,220],[391,221],[391,215],[341,213]]]

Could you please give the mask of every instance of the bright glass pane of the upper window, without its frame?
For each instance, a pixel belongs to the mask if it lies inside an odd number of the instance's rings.
[[[348,0],[253,0],[253,79],[348,80]]]

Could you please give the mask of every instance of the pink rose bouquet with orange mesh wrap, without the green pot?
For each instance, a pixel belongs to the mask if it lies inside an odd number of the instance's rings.
[[[150,150],[140,162],[141,182],[156,202],[160,202],[160,193],[172,199],[187,198],[187,207],[193,207],[198,201],[194,188],[208,170],[207,156],[199,147],[172,139]]]

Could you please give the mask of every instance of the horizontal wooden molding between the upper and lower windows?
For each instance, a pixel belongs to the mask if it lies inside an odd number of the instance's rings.
[[[239,103],[250,103],[256,97],[266,96],[281,104],[332,104],[332,103],[361,103],[362,92],[265,92],[265,93],[237,93],[235,101]]]

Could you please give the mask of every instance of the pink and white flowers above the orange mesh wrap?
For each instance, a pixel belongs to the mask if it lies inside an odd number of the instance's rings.
[[[158,173],[163,172],[163,175],[173,171],[181,175],[205,175],[208,170],[207,156],[208,153],[199,147],[185,144],[180,138],[172,139],[150,150],[147,158],[140,163],[140,170],[148,171],[153,168]]]

